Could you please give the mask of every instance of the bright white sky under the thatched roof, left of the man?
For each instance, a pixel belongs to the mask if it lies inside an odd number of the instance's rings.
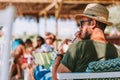
[[[79,28],[74,19],[58,19],[58,36],[59,37],[73,37],[74,33]],[[44,37],[45,32],[56,34],[56,21],[53,16],[46,21],[40,17],[37,23],[34,17],[18,17],[13,24],[13,36],[22,37],[24,35],[36,35]]]

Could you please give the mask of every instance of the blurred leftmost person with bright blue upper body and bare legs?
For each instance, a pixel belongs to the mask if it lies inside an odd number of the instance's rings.
[[[22,58],[25,53],[25,45],[22,39],[15,39],[12,43],[11,57],[13,62],[10,69],[10,80],[17,80],[22,77]]]

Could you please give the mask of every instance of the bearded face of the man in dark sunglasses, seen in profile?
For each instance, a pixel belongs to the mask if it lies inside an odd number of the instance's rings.
[[[80,20],[80,30],[81,30],[81,38],[83,40],[90,39],[91,31],[90,31],[90,22],[92,20],[86,17],[82,17]]]

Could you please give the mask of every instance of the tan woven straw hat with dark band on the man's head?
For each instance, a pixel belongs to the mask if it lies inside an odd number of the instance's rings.
[[[107,8],[97,3],[88,4],[83,14],[76,14],[75,18],[80,19],[82,16],[95,19],[99,22],[107,24],[108,26],[112,25],[111,22],[107,21],[109,17],[109,11]]]

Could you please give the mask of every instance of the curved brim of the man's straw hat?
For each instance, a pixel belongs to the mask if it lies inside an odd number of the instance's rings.
[[[112,25],[112,22],[108,22],[106,20],[101,20],[101,19],[99,19],[97,17],[94,17],[94,16],[90,16],[90,15],[86,15],[86,14],[76,14],[75,15],[75,19],[80,19],[81,17],[88,17],[88,18],[91,18],[91,19],[95,19],[95,20],[97,20],[99,22],[107,24],[107,26],[111,26]]]

